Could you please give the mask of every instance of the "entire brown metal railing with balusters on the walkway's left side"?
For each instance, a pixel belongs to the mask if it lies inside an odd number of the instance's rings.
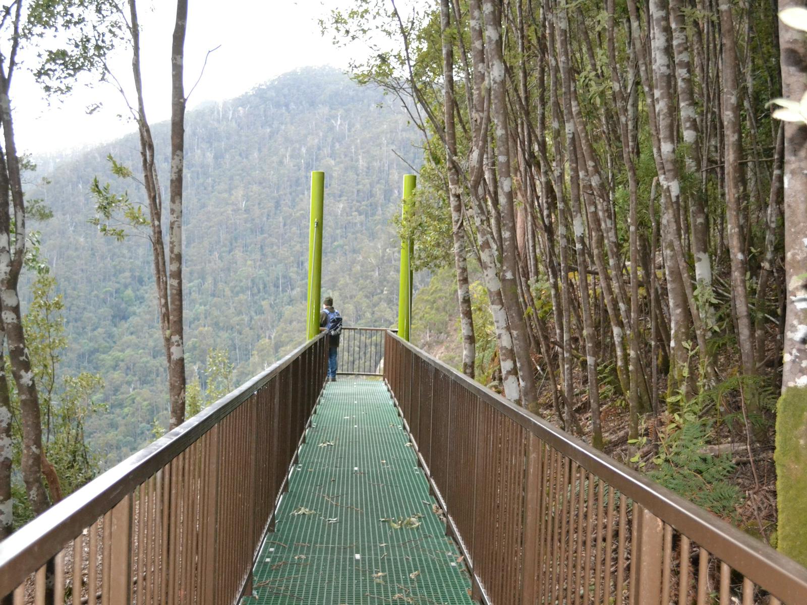
[[[236,603],[251,593],[327,353],[324,335],[308,341],[2,541],[0,603]]]

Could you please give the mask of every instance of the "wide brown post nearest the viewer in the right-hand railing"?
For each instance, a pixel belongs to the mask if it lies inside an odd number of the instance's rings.
[[[633,515],[638,517],[631,555],[636,559],[633,603],[660,605],[664,524],[638,503],[633,503]]]

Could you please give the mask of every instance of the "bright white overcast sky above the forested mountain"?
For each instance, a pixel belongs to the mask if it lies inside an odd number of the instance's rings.
[[[188,102],[189,109],[201,102],[233,98],[270,78],[306,65],[346,68],[350,53],[331,44],[330,35],[320,35],[316,21],[342,0],[190,0],[185,44],[186,94],[199,77],[199,86]],[[151,123],[170,115],[170,46],[176,3],[171,0],[141,0],[146,113]],[[111,61],[119,78],[132,79],[131,54],[119,52]],[[22,71],[12,87],[15,135],[21,152],[38,153],[81,148],[114,140],[134,131],[125,114],[120,94],[109,84],[79,86],[63,102],[47,102],[31,78]],[[100,102],[93,115],[86,107]]]

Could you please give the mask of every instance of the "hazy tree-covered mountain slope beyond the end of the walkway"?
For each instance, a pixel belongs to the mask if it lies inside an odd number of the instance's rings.
[[[323,293],[345,323],[395,320],[399,244],[390,219],[401,176],[420,151],[402,111],[383,94],[332,69],[288,73],[186,118],[184,209],[188,381],[204,381],[209,348],[235,364],[233,383],[303,340],[310,173],[324,170]],[[168,182],[167,123],[154,127],[162,186]],[[109,411],[88,422],[90,440],[115,461],[167,426],[165,354],[159,335],[148,240],[104,237],[90,183],[142,197],[110,173],[107,154],[140,171],[136,135],[40,161],[49,183],[29,191],[54,218],[37,225],[42,251],[65,299],[65,372],[98,372]],[[36,158],[35,158],[36,160]],[[45,169],[45,165],[52,168]]]

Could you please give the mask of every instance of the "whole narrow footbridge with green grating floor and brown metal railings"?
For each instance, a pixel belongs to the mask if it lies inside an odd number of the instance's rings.
[[[807,570],[393,332],[328,336],[0,543],[0,603],[807,603]],[[5,596],[4,596],[5,595]]]

